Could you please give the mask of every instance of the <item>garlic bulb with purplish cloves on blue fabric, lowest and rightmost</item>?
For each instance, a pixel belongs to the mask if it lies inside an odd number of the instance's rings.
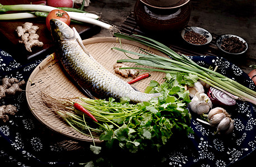
[[[230,134],[234,130],[234,121],[225,109],[216,107],[208,113],[208,120],[211,126],[217,126],[216,133]]]

